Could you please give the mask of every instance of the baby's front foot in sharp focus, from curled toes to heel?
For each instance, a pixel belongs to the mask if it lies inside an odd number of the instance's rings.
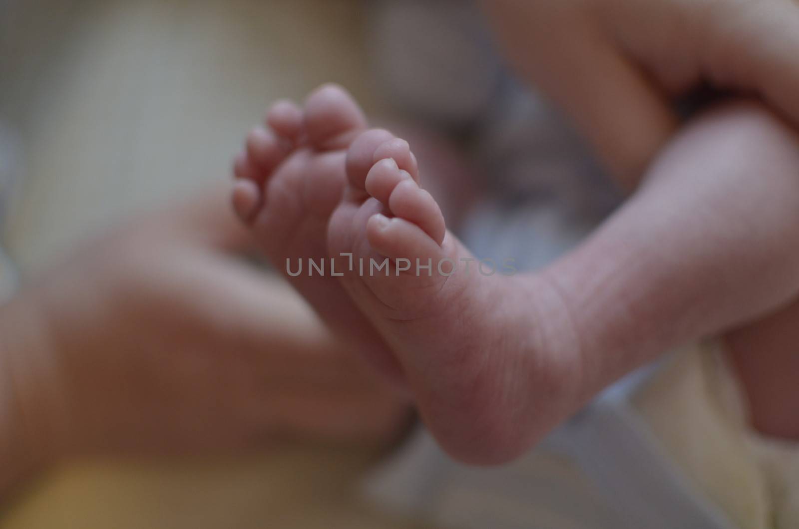
[[[447,232],[406,141],[361,134],[347,176],[329,249],[431,432],[470,463],[519,455],[577,405],[576,355],[554,346],[567,320],[558,296],[511,262],[477,261]]]

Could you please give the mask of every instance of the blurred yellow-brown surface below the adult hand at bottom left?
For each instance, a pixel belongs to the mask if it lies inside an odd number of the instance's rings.
[[[356,499],[369,459],[292,448],[246,459],[86,463],[44,479],[0,527],[416,527]]]

